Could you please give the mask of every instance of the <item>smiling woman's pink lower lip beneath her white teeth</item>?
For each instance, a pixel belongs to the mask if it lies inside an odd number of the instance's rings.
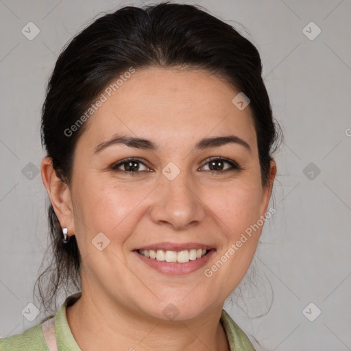
[[[180,276],[193,273],[193,271],[197,271],[197,269],[204,267],[211,256],[215,253],[215,250],[212,249],[205,256],[202,256],[202,258],[196,258],[196,260],[186,263],[157,261],[156,258],[149,258],[139,254],[138,251],[134,251],[134,253],[141,259],[141,261],[149,265],[149,267],[156,269],[156,271],[170,276]]]

